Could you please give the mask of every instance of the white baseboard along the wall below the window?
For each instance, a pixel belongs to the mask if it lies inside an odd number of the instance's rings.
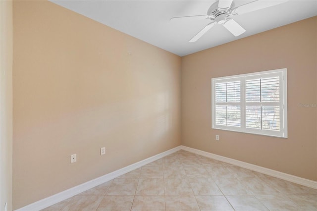
[[[201,151],[201,150],[196,150],[196,149],[190,148],[190,147],[181,146],[181,149],[185,150],[185,151],[188,151],[188,152],[191,152],[191,153],[195,153],[197,155],[201,155],[201,156],[207,157],[207,158],[216,159],[216,160],[223,161],[223,162],[226,162],[226,163],[230,163],[230,164],[233,164],[233,165],[237,165],[237,166],[240,166],[240,167],[243,167],[243,168],[247,168],[249,170],[253,170],[253,171],[264,173],[264,174],[267,174],[267,175],[270,175],[270,176],[273,176],[273,177],[277,177],[277,178],[280,178],[280,179],[283,179],[283,180],[286,180],[286,181],[289,181],[289,182],[293,182],[293,183],[296,183],[296,184],[300,184],[300,185],[304,185],[304,186],[307,186],[307,187],[310,187],[310,188],[317,189],[317,181],[305,179],[305,178],[294,176],[294,175],[291,175],[291,174],[286,174],[286,173],[283,173],[283,172],[280,172],[280,171],[275,171],[275,170],[272,170],[272,169],[269,169],[269,168],[264,168],[264,167],[261,167],[261,166],[258,166],[258,165],[254,165],[254,164],[250,164],[250,163],[247,163],[247,162],[243,162],[243,161],[240,161],[240,160],[236,160],[236,159],[232,159],[232,158],[226,158],[226,157],[223,157],[223,156],[218,156],[218,155],[215,155],[215,154],[212,154],[212,153],[208,153],[208,152]]]

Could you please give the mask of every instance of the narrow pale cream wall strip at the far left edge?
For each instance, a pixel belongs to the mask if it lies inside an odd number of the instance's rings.
[[[12,1],[0,0],[0,210],[12,210]]]

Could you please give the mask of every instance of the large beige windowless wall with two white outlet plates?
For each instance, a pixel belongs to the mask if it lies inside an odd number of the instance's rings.
[[[14,209],[180,145],[179,56],[49,1],[13,11]]]

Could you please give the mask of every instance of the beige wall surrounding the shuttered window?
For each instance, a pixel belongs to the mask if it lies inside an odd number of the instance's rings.
[[[182,57],[182,144],[317,181],[316,42],[315,16]],[[288,139],[211,129],[211,78],[285,67]]]

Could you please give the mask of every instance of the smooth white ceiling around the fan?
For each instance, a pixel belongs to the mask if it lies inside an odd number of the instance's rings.
[[[183,56],[317,15],[317,0],[289,0],[275,6],[234,16],[246,32],[234,37],[216,24],[195,43],[188,41],[209,20],[171,17],[204,15],[215,0],[51,0],[118,31],[168,52]],[[234,0],[241,5],[250,0]],[[300,38],[299,38],[300,39]]]

